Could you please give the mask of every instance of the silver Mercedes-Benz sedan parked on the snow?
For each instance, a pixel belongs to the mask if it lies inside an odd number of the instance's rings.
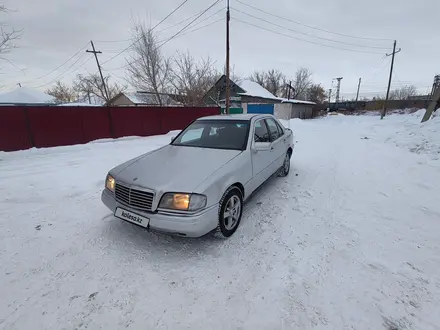
[[[101,198],[115,217],[147,229],[229,237],[252,192],[289,174],[293,148],[292,131],[272,115],[203,117],[169,145],[110,170]]]

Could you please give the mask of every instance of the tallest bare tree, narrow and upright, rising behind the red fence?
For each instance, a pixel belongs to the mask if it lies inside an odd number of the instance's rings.
[[[160,95],[170,86],[171,59],[162,54],[153,31],[144,25],[135,25],[132,38],[127,68],[131,84],[138,90],[153,92],[157,104],[162,105]]]

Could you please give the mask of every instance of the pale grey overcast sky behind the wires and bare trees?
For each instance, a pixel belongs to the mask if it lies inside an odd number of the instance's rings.
[[[129,45],[127,39],[130,38],[133,21],[141,20],[147,25],[154,25],[182,1],[3,1],[14,11],[2,13],[1,22],[23,29],[18,47],[7,55],[17,68],[7,62],[2,63],[0,84],[3,91],[13,89],[17,83],[45,90],[58,78],[69,83],[77,73],[95,72],[96,63],[92,55],[82,50],[66,65],[51,73],[90,40],[94,40],[96,48],[103,52],[100,60],[105,62]],[[213,1],[189,0],[156,31],[197,14]],[[402,48],[402,52],[396,55],[393,87],[414,84],[420,92],[426,92],[430,90],[433,76],[440,73],[439,0],[240,0],[271,14],[322,30],[390,40],[330,34],[264,14],[237,0],[230,1],[231,64],[235,72],[243,77],[254,70],[271,68],[292,76],[297,68],[303,66],[309,68],[314,81],[326,89],[331,87],[333,78],[343,77],[341,93],[348,98],[354,96],[358,79],[362,77],[361,95],[374,96],[386,90],[391,58],[384,58],[384,54],[391,52],[393,39],[397,39],[398,48]],[[200,20],[225,6],[226,0],[221,1]],[[163,51],[173,55],[176,51],[189,50],[196,57],[210,56],[221,68],[225,61],[225,23],[213,22],[224,15],[223,11],[219,12],[190,28],[188,31],[201,29],[173,39],[163,47]],[[159,39],[172,36],[184,25],[159,33]],[[208,26],[203,28],[205,25]],[[126,63],[126,55],[123,53],[103,65],[107,73],[122,83],[125,83],[125,71],[117,68]]]

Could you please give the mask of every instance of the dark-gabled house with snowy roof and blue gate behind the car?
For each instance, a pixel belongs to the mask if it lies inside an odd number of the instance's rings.
[[[314,102],[284,99],[273,95],[251,80],[230,80],[230,113],[269,113],[278,118],[312,118]],[[205,94],[208,105],[225,107],[226,76],[223,75]]]

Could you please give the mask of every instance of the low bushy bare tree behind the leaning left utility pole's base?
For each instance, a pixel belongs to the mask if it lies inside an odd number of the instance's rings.
[[[108,91],[108,98],[105,93],[104,86],[99,74],[94,73],[88,76],[77,75],[73,82],[73,89],[82,97],[96,96],[104,102],[109,102],[117,94],[127,89],[127,86],[122,86],[117,83],[110,83],[110,76],[104,77],[104,82]]]

